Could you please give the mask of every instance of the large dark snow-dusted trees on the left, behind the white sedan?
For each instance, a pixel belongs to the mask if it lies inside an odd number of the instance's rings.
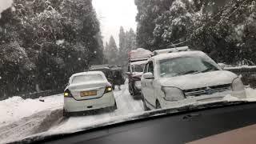
[[[34,91],[36,85],[62,89],[71,74],[102,63],[99,27],[91,0],[14,0],[0,18],[2,55],[9,54],[0,60],[0,87],[10,85],[0,95]]]

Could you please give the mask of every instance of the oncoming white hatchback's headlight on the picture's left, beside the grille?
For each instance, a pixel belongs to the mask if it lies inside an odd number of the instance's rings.
[[[165,94],[164,99],[166,101],[180,101],[185,98],[182,90],[177,87],[162,86],[162,91]]]

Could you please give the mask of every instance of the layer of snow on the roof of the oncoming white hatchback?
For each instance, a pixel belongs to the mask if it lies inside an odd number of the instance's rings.
[[[159,61],[162,59],[187,57],[187,56],[197,56],[197,57],[204,57],[204,58],[207,57],[207,55],[202,51],[195,50],[195,51],[181,51],[181,52],[175,52],[175,53],[159,54],[154,57],[151,57],[149,60]]]

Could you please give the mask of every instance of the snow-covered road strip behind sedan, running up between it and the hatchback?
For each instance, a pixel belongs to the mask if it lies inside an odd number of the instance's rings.
[[[134,114],[144,111],[142,100],[139,97],[132,97],[129,94],[127,85],[122,86],[122,90],[114,90],[114,96],[118,105],[118,110],[113,112],[96,112],[86,116],[70,117],[58,126],[54,126],[51,130],[66,131],[78,130],[82,127],[92,126],[95,123],[108,122],[113,118],[122,115]]]

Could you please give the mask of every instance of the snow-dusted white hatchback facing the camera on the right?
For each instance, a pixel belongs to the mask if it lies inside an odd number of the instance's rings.
[[[246,98],[241,78],[222,70],[202,51],[182,51],[151,57],[142,74],[142,100],[146,110]]]

